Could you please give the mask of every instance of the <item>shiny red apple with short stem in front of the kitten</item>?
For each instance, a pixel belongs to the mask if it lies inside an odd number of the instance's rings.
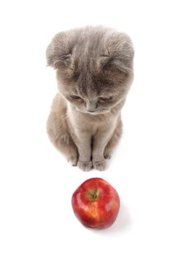
[[[120,198],[103,178],[89,178],[73,193],[72,208],[82,225],[103,229],[115,222]]]

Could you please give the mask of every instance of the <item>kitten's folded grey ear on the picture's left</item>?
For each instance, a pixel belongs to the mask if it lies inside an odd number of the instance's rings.
[[[46,50],[47,65],[54,69],[69,67],[72,56],[72,38],[66,32],[55,35]]]

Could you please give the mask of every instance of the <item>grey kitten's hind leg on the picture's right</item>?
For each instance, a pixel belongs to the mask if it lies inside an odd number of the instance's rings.
[[[113,148],[115,148],[122,135],[122,127],[122,121],[121,118],[119,118],[119,120],[117,121],[117,127],[115,128],[115,132],[113,133],[112,138],[109,140],[109,143],[107,143],[107,146],[104,148],[105,159],[110,159],[112,157]]]

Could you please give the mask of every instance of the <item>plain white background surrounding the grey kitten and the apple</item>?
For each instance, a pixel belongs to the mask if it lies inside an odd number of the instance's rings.
[[[0,255],[170,255],[169,1],[1,1]],[[123,138],[107,170],[70,167],[46,135],[57,83],[45,50],[58,32],[104,25],[134,42]],[[71,197],[90,177],[109,181],[120,214],[83,227]]]

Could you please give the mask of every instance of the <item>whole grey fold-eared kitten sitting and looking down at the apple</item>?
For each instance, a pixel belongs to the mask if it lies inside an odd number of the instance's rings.
[[[71,165],[104,170],[122,133],[121,109],[133,80],[126,34],[101,26],[58,33],[47,48],[58,94],[47,133]]]

